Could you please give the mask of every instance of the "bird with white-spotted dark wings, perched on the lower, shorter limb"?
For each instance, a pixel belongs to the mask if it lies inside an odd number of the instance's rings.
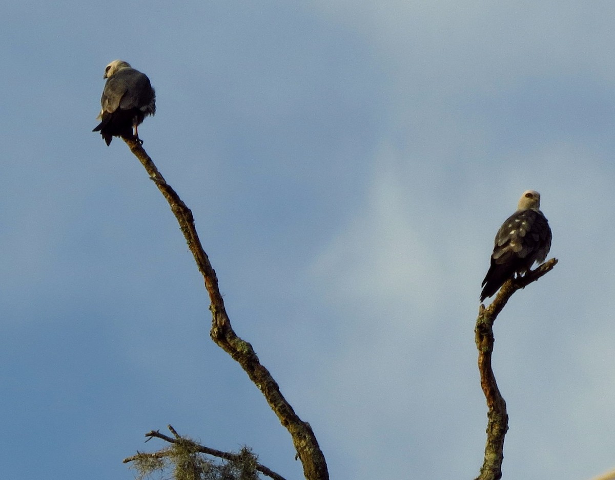
[[[504,282],[542,263],[551,248],[551,229],[540,211],[540,193],[526,190],[517,211],[502,223],[495,238],[491,265],[481,287],[480,301],[493,296]]]

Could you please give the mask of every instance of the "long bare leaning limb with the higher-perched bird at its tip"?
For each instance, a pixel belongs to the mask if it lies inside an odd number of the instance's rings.
[[[218,288],[218,278],[207,254],[200,244],[196,228],[194,228],[192,212],[183,203],[175,190],[167,184],[140,143],[130,139],[124,139],[124,141],[146,169],[149,177],[154,180],[164,198],[169,202],[171,211],[180,225],[186,242],[188,242],[188,247],[194,256],[194,261],[196,261],[197,267],[205,281],[205,288],[207,288],[211,302],[209,306],[212,312],[211,338],[241,365],[245,373],[250,377],[250,380],[261,390],[269,406],[279,418],[280,423],[287,428],[292,436],[293,444],[295,444],[297,455],[303,464],[303,473],[306,480],[328,480],[327,462],[320,450],[314,432],[312,432],[312,428],[308,422],[303,422],[297,416],[290,403],[280,392],[280,388],[276,381],[274,381],[271,373],[261,365],[260,360],[252,349],[252,345],[239,338],[232,329],[231,320],[229,320],[226,314],[224,301]]]

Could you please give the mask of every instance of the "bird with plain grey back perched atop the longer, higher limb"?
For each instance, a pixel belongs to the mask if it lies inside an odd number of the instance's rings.
[[[92,131],[100,131],[107,145],[114,136],[142,144],[137,126],[148,115],[156,114],[156,91],[147,75],[123,60],[114,60],[106,66],[103,79],[107,82],[97,117],[101,122]]]

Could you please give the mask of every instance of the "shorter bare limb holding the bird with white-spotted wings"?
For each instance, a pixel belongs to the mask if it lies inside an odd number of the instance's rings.
[[[556,264],[557,258],[551,258],[538,268],[528,271],[524,276],[510,279],[502,285],[489,308],[485,308],[484,304],[480,304],[478,309],[478,318],[474,328],[474,341],[478,349],[480,386],[483,389],[483,393],[485,393],[488,422],[485,460],[480,469],[480,475],[475,480],[499,480],[502,478],[504,436],[508,430],[506,401],[498,389],[496,377],[491,368],[491,353],[493,352],[494,342],[493,323],[513,293],[549,273]]]

